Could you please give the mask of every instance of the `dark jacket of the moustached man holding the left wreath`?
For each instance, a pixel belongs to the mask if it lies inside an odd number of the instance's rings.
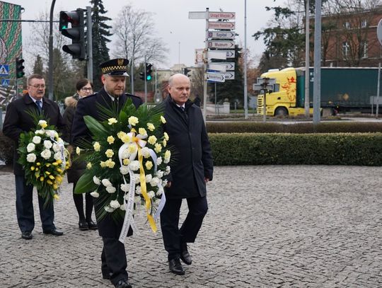
[[[33,118],[25,111],[32,110],[36,113],[37,105],[30,98],[29,94],[18,98],[11,102],[6,108],[6,116],[4,118],[3,133],[15,142],[15,149],[13,153],[13,172],[15,175],[24,175],[23,167],[17,163],[18,161],[18,139],[22,132],[28,132],[36,128]],[[42,99],[42,111],[45,115],[44,119],[50,125],[57,127],[57,132],[64,132],[64,120],[59,112],[57,103],[48,98]]]

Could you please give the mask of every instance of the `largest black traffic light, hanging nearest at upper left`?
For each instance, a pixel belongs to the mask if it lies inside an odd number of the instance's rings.
[[[69,28],[69,23],[71,23],[71,28]],[[62,50],[71,54],[73,59],[85,60],[85,19],[83,10],[78,8],[76,11],[60,11],[59,30],[62,35],[71,39],[71,44],[62,46]]]

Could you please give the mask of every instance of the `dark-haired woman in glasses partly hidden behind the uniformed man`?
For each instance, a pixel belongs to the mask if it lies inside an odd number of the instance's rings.
[[[88,81],[88,79],[81,79],[76,83],[76,94],[74,96],[65,98],[66,109],[64,111],[64,122],[66,124],[66,133],[64,135],[64,140],[71,144],[71,126],[73,124],[74,113],[76,112],[77,102],[79,99],[93,94],[93,83]],[[76,151],[75,147],[71,145],[71,154]],[[71,157],[73,159],[73,157]],[[74,194],[74,189],[76,188],[76,183],[81,177],[83,171],[86,169],[85,163],[74,161],[71,163],[71,168],[68,170],[68,182],[73,183],[73,199],[76,205],[77,212],[79,213],[79,229],[97,229],[97,224],[91,219],[91,214],[93,212],[93,197],[90,192],[85,194],[85,214],[83,214],[83,195]]]

